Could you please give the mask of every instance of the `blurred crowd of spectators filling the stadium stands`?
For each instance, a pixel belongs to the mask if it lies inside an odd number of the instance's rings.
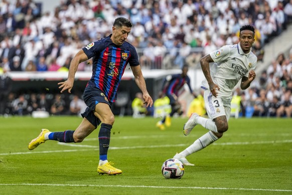
[[[292,21],[292,0],[68,0],[45,13],[34,0],[2,0],[0,71],[68,71],[80,48],[110,34],[116,17],[133,23],[127,41],[136,47],[142,69],[199,68],[201,56],[236,44],[246,24],[255,26],[252,50],[262,60],[263,46]],[[291,115],[291,53],[279,55],[250,89],[235,91],[243,112],[252,107],[255,116]],[[78,71],[91,67],[88,60]],[[32,107],[27,113],[34,109],[32,95],[14,97]],[[14,106],[11,112],[19,110]]]

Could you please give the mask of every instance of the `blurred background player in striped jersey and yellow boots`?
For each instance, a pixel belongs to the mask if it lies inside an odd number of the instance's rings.
[[[175,113],[181,114],[181,105],[178,102],[178,96],[180,89],[187,84],[189,86],[190,92],[196,97],[196,94],[193,92],[191,88],[191,83],[190,83],[190,77],[187,75],[188,73],[188,66],[184,65],[182,68],[182,73],[180,74],[173,74],[173,75],[168,75],[163,82],[162,85],[162,91],[163,93],[168,96],[170,100],[170,105],[172,108],[172,111],[169,115],[165,116],[161,121],[157,122],[156,126],[160,128],[161,130],[165,129],[165,126],[170,126],[171,125],[171,117]]]

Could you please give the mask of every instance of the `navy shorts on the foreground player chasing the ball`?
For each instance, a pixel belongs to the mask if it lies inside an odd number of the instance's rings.
[[[105,103],[111,107],[112,103],[108,102],[104,92],[95,87],[86,87],[83,93],[83,100],[87,106],[84,113],[81,116],[86,118],[95,128],[101,123],[101,121],[94,115],[95,106],[98,103]]]

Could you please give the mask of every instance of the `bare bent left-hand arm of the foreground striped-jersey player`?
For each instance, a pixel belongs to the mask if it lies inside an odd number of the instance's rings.
[[[68,89],[68,92],[71,93],[71,89],[73,87],[75,73],[77,71],[78,65],[80,62],[83,62],[85,60],[88,60],[88,57],[84,53],[84,51],[81,49],[78,51],[78,53],[74,56],[74,58],[70,62],[67,80],[65,80],[64,82],[58,83],[60,85],[59,88],[62,88],[61,93],[67,89]]]

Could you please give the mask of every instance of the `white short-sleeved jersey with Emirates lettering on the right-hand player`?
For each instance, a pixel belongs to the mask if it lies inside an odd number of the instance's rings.
[[[249,70],[256,67],[257,57],[250,51],[244,53],[239,45],[225,45],[210,53],[214,63],[210,64],[210,74],[215,84],[220,87],[218,97],[232,97],[232,90],[238,81],[248,77]],[[209,89],[207,80],[202,81],[202,88]]]

